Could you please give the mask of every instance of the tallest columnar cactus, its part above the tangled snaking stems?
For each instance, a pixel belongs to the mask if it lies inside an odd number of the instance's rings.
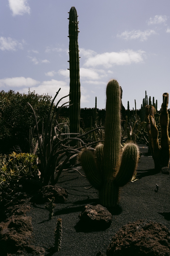
[[[75,7],[69,12],[69,63],[70,63],[70,133],[80,130],[80,68],[78,45],[78,21]]]

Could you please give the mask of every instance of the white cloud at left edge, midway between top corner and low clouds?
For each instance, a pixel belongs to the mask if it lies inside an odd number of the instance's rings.
[[[0,49],[2,51],[16,51],[17,48],[22,49],[22,44],[10,37],[0,37]]]

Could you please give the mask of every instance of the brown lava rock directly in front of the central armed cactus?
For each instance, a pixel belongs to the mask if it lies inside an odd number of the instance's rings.
[[[79,218],[84,226],[97,229],[108,228],[112,221],[111,213],[102,205],[85,205]]]

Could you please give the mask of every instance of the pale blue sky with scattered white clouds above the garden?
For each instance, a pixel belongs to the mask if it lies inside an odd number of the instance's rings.
[[[0,89],[69,94],[69,14],[79,15],[81,108],[106,107],[116,79],[127,109],[170,93],[169,0],[3,0],[0,8]],[[63,102],[69,99],[64,99]],[[168,107],[170,108],[170,106]]]

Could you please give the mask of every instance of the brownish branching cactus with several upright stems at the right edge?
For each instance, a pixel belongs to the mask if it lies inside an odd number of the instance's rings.
[[[146,105],[146,122],[147,122],[147,132],[149,137],[149,146],[151,149],[152,157],[155,164],[155,169],[161,169],[162,167],[169,167],[170,158],[170,139],[168,135],[168,124],[169,116],[167,111],[168,106],[168,93],[163,94],[163,103],[161,106],[160,115],[160,126],[161,126],[161,141],[159,145],[158,140],[158,129],[156,127],[156,122],[154,115],[156,110],[153,106]]]

